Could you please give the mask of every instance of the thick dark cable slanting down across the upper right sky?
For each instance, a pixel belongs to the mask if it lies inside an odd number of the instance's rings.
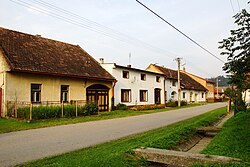
[[[155,13],[153,10],[151,10],[149,7],[147,7],[146,5],[144,5],[143,3],[141,3],[140,1],[136,0],[136,2],[138,2],[140,5],[142,5],[143,7],[145,7],[147,10],[149,10],[151,13],[153,13],[154,15],[156,15],[158,18],[160,18],[161,20],[163,20],[165,23],[167,23],[168,25],[170,25],[172,28],[174,28],[176,31],[178,31],[179,33],[181,33],[183,36],[185,36],[187,39],[189,39],[190,41],[192,41],[194,44],[196,44],[197,46],[199,46],[201,49],[203,49],[204,51],[206,51],[207,53],[209,53],[211,56],[213,56],[214,58],[216,58],[217,60],[221,61],[222,63],[225,63],[223,60],[221,60],[219,57],[217,57],[216,55],[214,55],[212,52],[210,52],[209,50],[207,50],[206,48],[204,48],[203,46],[201,46],[198,42],[196,42],[195,40],[193,40],[191,37],[189,37],[188,35],[186,35],[185,33],[183,33],[181,30],[179,30],[178,28],[176,28],[174,25],[172,25],[171,23],[169,23],[167,20],[165,20],[163,17],[161,17],[160,15],[158,15],[157,13]]]

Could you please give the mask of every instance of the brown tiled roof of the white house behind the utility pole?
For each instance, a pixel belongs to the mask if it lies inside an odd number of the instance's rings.
[[[171,70],[165,67],[154,65],[158,68],[162,73],[165,74],[166,78],[169,79],[178,79],[178,72],[176,70]],[[181,88],[186,90],[200,90],[200,91],[207,91],[207,89],[202,86],[200,83],[189,77],[187,74],[180,73],[180,80],[181,80]]]

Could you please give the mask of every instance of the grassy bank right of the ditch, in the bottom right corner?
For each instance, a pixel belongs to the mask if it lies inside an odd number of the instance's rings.
[[[250,109],[247,112],[240,112],[228,120],[224,124],[223,130],[215,136],[202,153],[235,157],[243,160],[241,164],[229,164],[225,166],[250,166],[249,127]]]

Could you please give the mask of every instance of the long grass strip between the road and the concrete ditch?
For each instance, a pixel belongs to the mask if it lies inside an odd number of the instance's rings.
[[[225,112],[226,108],[223,107],[163,128],[19,166],[139,166],[145,164],[146,161],[136,158],[133,155],[133,149],[138,147],[164,149],[174,147],[181,141],[190,138],[197,127],[208,126],[218,120]]]

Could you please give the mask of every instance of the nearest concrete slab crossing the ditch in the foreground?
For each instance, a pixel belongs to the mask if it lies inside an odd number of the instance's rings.
[[[145,158],[147,161],[168,164],[168,165],[176,165],[176,166],[191,166],[194,163],[227,164],[229,162],[241,161],[240,159],[231,157],[193,154],[188,152],[163,150],[155,148],[138,148],[135,149],[134,152],[137,156]]]

